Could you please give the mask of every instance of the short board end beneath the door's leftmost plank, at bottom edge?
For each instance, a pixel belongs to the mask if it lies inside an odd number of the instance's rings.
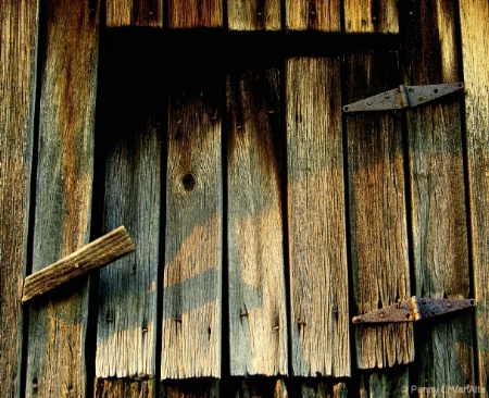
[[[97,378],[95,398],[155,398],[155,383],[154,378]]]

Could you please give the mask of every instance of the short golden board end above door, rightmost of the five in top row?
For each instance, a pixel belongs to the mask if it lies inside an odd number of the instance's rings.
[[[347,33],[399,33],[397,0],[344,0]]]

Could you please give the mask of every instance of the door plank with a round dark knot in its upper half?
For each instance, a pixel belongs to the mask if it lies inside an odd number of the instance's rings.
[[[220,377],[224,76],[183,61],[168,99],[161,377]]]

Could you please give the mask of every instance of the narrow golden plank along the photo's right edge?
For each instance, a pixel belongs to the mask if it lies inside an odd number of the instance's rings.
[[[489,3],[460,1],[478,384],[489,390]]]

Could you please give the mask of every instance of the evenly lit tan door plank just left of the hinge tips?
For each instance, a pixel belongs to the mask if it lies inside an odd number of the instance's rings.
[[[350,375],[339,59],[286,62],[287,198],[297,376]]]

